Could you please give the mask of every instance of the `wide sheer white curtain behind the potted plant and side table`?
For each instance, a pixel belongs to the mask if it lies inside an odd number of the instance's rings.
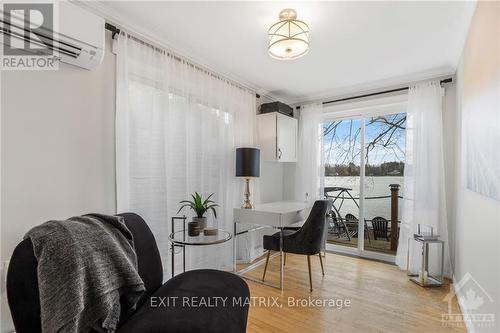
[[[215,193],[220,207],[208,224],[232,231],[242,193],[234,176],[235,148],[255,143],[255,95],[125,33],[114,49],[117,209],[144,217],[167,278],[167,237],[179,201],[195,191]],[[187,269],[232,267],[229,242],[186,250]],[[177,269],[181,262],[176,259]]]

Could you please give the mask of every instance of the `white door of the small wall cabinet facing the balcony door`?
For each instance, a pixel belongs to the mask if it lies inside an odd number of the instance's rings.
[[[297,119],[277,114],[277,159],[280,162],[297,161]]]

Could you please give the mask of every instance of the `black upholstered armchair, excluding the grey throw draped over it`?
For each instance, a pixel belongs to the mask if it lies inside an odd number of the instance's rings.
[[[134,236],[138,271],[146,291],[136,311],[122,313],[118,333],[144,332],[245,332],[248,306],[233,304],[232,298],[250,296],[247,284],[238,276],[217,270],[193,270],[163,282],[160,253],[151,230],[137,214],[119,214]],[[152,307],[156,297],[228,297],[227,304],[214,307]],[[7,273],[7,298],[18,333],[41,332],[37,262],[30,239],[15,248]],[[180,303],[180,302],[179,302]],[[244,302],[243,302],[244,303]]]

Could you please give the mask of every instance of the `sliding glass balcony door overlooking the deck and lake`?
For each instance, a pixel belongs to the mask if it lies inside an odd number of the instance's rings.
[[[327,248],[394,261],[404,192],[406,114],[329,119],[323,124]],[[393,234],[394,231],[394,234]]]

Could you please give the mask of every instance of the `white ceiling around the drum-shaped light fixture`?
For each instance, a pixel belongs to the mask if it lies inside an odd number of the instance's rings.
[[[288,103],[454,73],[471,2],[167,2],[96,5],[118,24]],[[309,54],[267,54],[283,8],[309,24]]]

